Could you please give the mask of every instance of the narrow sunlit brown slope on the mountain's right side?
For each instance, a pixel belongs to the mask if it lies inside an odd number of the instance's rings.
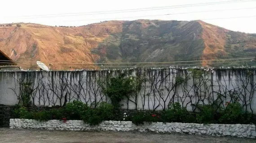
[[[202,60],[216,59],[225,56],[226,35],[230,30],[211,25],[203,21],[198,21],[203,28],[202,38],[204,40],[205,49],[202,53]],[[203,61],[202,65],[206,66],[211,61]]]

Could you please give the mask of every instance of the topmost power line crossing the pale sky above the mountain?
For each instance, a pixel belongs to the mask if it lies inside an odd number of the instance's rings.
[[[82,15],[95,15],[95,14],[109,14],[109,13],[129,13],[129,12],[138,12],[138,11],[149,11],[149,10],[159,10],[159,9],[170,9],[170,8],[186,8],[186,7],[195,7],[195,6],[206,6],[206,5],[216,5],[216,4],[230,4],[230,3],[240,3],[240,2],[251,2],[255,0],[228,0],[220,2],[210,2],[210,3],[197,3],[197,4],[182,4],[182,5],[173,5],[173,6],[162,6],[162,7],[151,7],[151,8],[136,8],[136,9],[124,9],[124,10],[110,10],[110,11],[98,11],[98,12],[87,12],[87,13],[60,13],[60,14],[44,14],[44,15],[31,15],[31,16],[19,16],[19,17],[44,17],[44,16],[53,16],[53,17],[67,17],[67,16],[79,16]]]

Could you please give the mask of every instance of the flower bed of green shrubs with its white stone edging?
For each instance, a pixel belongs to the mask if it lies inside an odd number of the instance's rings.
[[[121,110],[106,102],[92,107],[73,101],[56,109],[15,109],[10,128],[48,130],[118,130],[194,135],[256,137],[255,116],[243,112],[238,103],[224,109],[198,105],[199,113],[187,112],[179,103],[163,111]],[[182,122],[182,123],[181,123]],[[254,124],[253,124],[254,123]]]

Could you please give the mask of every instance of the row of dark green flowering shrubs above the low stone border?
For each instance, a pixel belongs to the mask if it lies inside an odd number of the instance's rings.
[[[27,109],[20,107],[14,110],[16,118],[47,121],[83,120],[90,125],[97,125],[102,121],[132,121],[135,125],[144,122],[183,122],[183,123],[224,123],[251,124],[255,123],[255,115],[243,112],[239,103],[227,103],[225,109],[216,109],[216,105],[198,105],[199,113],[190,113],[179,103],[174,103],[165,111],[116,110],[113,105],[102,102],[96,108],[73,101],[66,107],[58,109]],[[124,114],[125,113],[125,114]]]

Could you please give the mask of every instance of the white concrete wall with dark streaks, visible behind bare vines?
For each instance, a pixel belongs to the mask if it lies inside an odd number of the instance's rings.
[[[191,103],[208,103],[217,98],[217,94],[225,95],[225,99],[230,101],[232,93],[236,92],[236,96],[240,97],[240,102],[247,107],[248,111],[256,112],[256,96],[254,90],[251,90],[251,84],[244,87],[242,83],[246,79],[246,69],[219,69],[213,73],[208,73],[205,78],[208,79],[207,84],[213,83],[207,89],[193,86],[193,80],[189,80],[184,84],[173,88],[177,74],[185,77],[190,74],[187,70],[176,69],[158,69],[147,70],[147,79],[154,77],[154,83],[159,82],[157,87],[152,88],[150,82],[142,83],[142,89],[137,94],[137,98],[132,97],[130,101],[123,101],[124,109],[164,109],[168,108],[169,102],[179,101],[187,109],[193,110]],[[98,88],[97,77],[104,80],[107,74],[112,76],[118,75],[118,71],[0,71],[0,104],[15,105],[18,104],[17,95],[20,94],[19,81],[30,81],[35,91],[33,92],[35,105],[60,105],[64,103],[64,96],[68,93],[68,101],[80,100],[88,104],[110,100]],[[137,71],[131,71],[131,75],[136,76]],[[61,81],[65,80],[67,84]],[[253,70],[253,75],[250,78],[253,89],[256,88],[256,72]],[[40,84],[39,84],[40,83]],[[152,82],[151,82],[152,83]],[[160,86],[160,88],[159,88]],[[158,91],[159,90],[159,93]],[[171,90],[168,92],[168,90]],[[15,91],[15,92],[14,92]],[[16,94],[17,95],[16,95]],[[35,94],[34,94],[35,93]],[[196,94],[198,93],[198,94]],[[201,95],[200,97],[198,95]],[[245,95],[246,94],[246,95]],[[144,96],[145,95],[145,96]],[[246,98],[245,98],[246,97]],[[136,101],[137,104],[132,101]],[[225,103],[224,103],[225,104]],[[137,106],[136,106],[137,105]]]

